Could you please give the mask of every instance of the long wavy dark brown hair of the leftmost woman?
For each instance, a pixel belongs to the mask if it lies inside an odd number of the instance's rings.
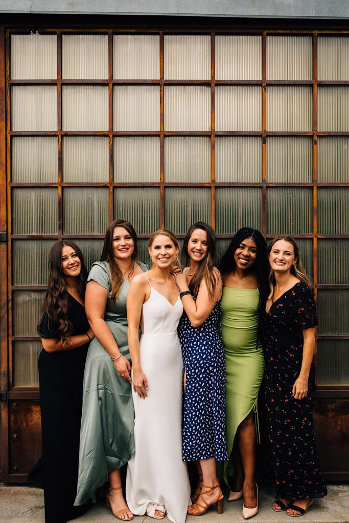
[[[39,327],[44,313],[47,313],[49,323],[58,325],[58,333],[61,336],[62,345],[67,344],[69,336],[73,332],[73,326],[69,321],[69,302],[66,281],[62,272],[62,249],[65,245],[72,247],[81,261],[80,275],[77,276],[77,291],[82,301],[85,299],[85,289],[87,280],[87,269],[83,253],[76,243],[71,240],[61,240],[55,243],[49,254],[49,280],[47,292],[43,299],[40,320],[37,326],[38,333],[41,335]]]

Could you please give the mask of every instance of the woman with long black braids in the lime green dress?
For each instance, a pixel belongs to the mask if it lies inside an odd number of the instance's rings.
[[[223,477],[230,486],[228,501],[243,497],[245,519],[257,514],[255,452],[257,398],[264,357],[262,314],[268,296],[266,244],[262,234],[240,229],[221,259],[223,279],[221,328],[226,355],[226,427],[229,461]]]

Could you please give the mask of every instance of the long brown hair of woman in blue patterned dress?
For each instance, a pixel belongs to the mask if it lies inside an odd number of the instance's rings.
[[[190,236],[192,236],[193,232],[196,229],[201,229],[202,231],[205,231],[207,234],[207,255],[204,259],[200,261],[200,265],[198,270],[195,272],[193,278],[189,282],[189,290],[192,291],[194,296],[197,296],[200,288],[200,283],[202,279],[205,280],[208,295],[210,300],[213,299],[218,280],[215,277],[214,269],[216,266],[217,261],[217,252],[216,252],[216,234],[215,231],[213,231],[212,227],[208,225],[208,223],[205,222],[196,222],[193,223],[191,227],[189,227],[188,232],[184,238],[183,242],[183,254],[185,256],[185,263],[186,265],[190,265],[190,257],[188,254],[188,243],[190,240]],[[218,271],[217,271],[218,274]]]

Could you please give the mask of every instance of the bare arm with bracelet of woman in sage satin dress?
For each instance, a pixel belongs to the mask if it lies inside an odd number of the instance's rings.
[[[98,339],[98,342],[109,354],[110,358],[118,358],[120,350],[114,336],[104,321],[104,313],[107,306],[108,289],[102,287],[94,280],[87,283],[85,294],[85,310],[88,323]],[[131,366],[125,356],[114,360],[114,365],[119,376],[131,383]]]

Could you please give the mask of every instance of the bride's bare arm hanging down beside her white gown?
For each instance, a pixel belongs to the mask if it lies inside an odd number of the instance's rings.
[[[133,390],[141,398],[147,397],[147,377],[141,368],[139,356],[139,324],[142,305],[147,299],[149,284],[141,274],[135,276],[127,293],[127,337],[132,360]]]

